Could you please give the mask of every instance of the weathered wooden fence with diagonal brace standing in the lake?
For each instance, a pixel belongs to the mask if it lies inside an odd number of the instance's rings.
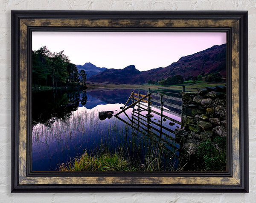
[[[178,93],[177,93],[178,95]],[[180,96],[180,94],[179,94]],[[132,101],[132,104],[127,106],[129,101]],[[175,101],[178,104],[172,103]],[[131,118],[125,112],[127,109],[133,107]],[[136,109],[136,107],[138,109]],[[168,108],[169,107],[169,108]],[[119,120],[122,120],[127,125],[137,129],[139,132],[143,134],[148,134],[149,132],[154,132],[155,136],[157,136],[161,141],[166,143],[167,149],[171,150],[172,152],[177,152],[179,146],[174,142],[174,130],[168,128],[168,126],[163,126],[164,120],[171,121],[170,123],[174,122],[174,124],[181,125],[181,113],[177,113],[170,110],[170,107],[173,109],[178,109],[180,112],[182,111],[182,100],[180,97],[174,96],[167,96],[163,95],[162,93],[154,93],[150,92],[148,89],[148,94],[140,94],[131,92],[130,97],[128,98],[125,106],[122,108],[122,111],[118,112],[114,116]],[[158,111],[157,111],[158,110]],[[147,111],[147,114],[143,115],[140,113],[141,111]],[[127,121],[120,118],[118,115],[124,113],[126,117],[128,117]],[[160,119],[154,121],[152,119],[152,114],[157,114],[160,116]],[[170,114],[174,115],[175,117],[180,118],[180,120],[170,117]],[[180,126],[178,126],[180,127]]]

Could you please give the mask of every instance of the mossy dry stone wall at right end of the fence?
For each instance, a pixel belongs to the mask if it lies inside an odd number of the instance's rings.
[[[226,150],[226,86],[183,92],[182,102],[182,128],[175,131],[175,141],[180,144],[180,158],[184,164],[189,163],[184,170],[200,170],[197,164],[203,161],[198,154],[201,143],[208,142],[215,151]]]

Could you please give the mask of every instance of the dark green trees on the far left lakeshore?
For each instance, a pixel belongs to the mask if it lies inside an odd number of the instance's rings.
[[[80,79],[81,78],[81,79]],[[52,53],[46,46],[32,51],[32,83],[33,86],[80,86],[85,85],[86,74],[70,63],[64,50]]]

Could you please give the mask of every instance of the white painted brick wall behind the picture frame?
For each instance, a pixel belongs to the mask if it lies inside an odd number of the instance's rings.
[[[248,10],[250,194],[11,194],[11,10]],[[255,0],[0,0],[0,203],[253,203],[256,202]]]

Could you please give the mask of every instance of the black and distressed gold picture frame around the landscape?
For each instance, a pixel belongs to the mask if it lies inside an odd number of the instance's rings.
[[[32,172],[32,32],[227,33],[226,172]],[[247,11],[12,11],[12,192],[249,192]]]

